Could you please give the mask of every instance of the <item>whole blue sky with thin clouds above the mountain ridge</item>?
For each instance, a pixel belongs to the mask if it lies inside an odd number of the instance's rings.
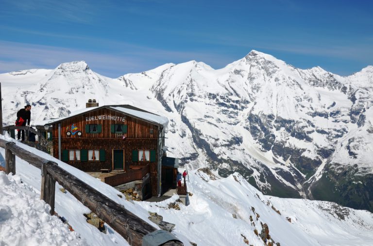
[[[368,0],[0,0],[0,73],[84,60],[107,77],[252,49],[347,76],[373,65]]]

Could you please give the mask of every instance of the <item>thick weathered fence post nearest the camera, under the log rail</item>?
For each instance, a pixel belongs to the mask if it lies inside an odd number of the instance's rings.
[[[57,163],[48,161],[41,165],[41,189],[40,199],[44,200],[51,206],[51,215],[54,215],[54,195],[56,181],[53,179],[51,174],[48,173],[48,167],[51,165],[57,165]]]

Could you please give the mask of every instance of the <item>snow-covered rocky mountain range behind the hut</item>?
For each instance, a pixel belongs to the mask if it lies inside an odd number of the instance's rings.
[[[6,124],[26,103],[34,123],[68,116],[93,98],[130,104],[167,117],[170,155],[194,168],[223,177],[237,171],[266,194],[373,211],[373,66],[341,77],[253,50],[217,70],[190,61],[113,79],[69,62],[0,80]],[[355,193],[360,198],[349,202]]]

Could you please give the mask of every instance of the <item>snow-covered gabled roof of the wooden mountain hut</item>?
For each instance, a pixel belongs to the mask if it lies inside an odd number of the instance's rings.
[[[164,127],[167,127],[169,120],[166,117],[159,116],[153,113],[150,113],[148,111],[145,111],[140,108],[136,108],[130,105],[107,105],[107,106],[100,106],[100,107],[90,107],[90,108],[82,108],[79,110],[76,110],[74,112],[71,112],[68,116],[60,119],[50,119],[50,120],[44,120],[41,122],[34,123],[36,125],[45,125],[45,124],[52,124],[56,122],[60,122],[63,120],[66,120],[68,118],[84,114],[89,111],[97,110],[99,108],[109,108],[116,111],[119,111],[121,113],[128,114],[130,116],[133,116],[135,118],[142,119],[144,121],[147,121],[149,123],[157,124],[157,125],[163,125]]]

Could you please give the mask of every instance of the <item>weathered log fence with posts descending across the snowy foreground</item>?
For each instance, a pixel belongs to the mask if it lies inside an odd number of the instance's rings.
[[[16,174],[16,155],[34,167],[41,169],[40,198],[51,206],[51,215],[54,214],[55,183],[58,182],[77,200],[82,202],[123,236],[130,245],[140,246],[143,243],[143,237],[146,238],[144,241],[147,241],[148,238],[152,238],[156,232],[159,232],[152,225],[137,217],[122,205],[119,205],[65,169],[59,167],[57,163],[44,159],[17,146],[13,142],[3,139],[0,139],[0,147],[5,148],[5,169],[7,174],[10,172]],[[173,241],[167,241],[162,245],[183,245],[177,238],[174,236],[173,238]],[[153,241],[155,242],[156,240]],[[158,244],[153,243],[151,245]]]

